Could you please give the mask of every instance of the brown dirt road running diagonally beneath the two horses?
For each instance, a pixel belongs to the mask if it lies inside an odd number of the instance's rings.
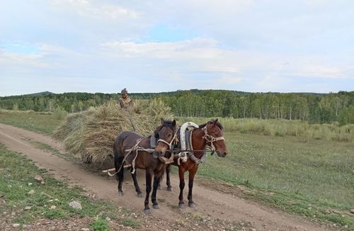
[[[42,142],[60,152],[65,152],[62,144],[55,142],[49,136],[0,124],[0,143],[6,145],[10,150],[21,152],[32,159],[38,167],[50,170],[57,179],[68,179],[72,184],[77,184],[85,188],[86,191],[95,193],[98,198],[143,213],[144,198],[137,197],[130,174],[125,174],[125,184],[123,184],[125,195],[118,196],[115,179],[95,173],[89,170],[89,167],[85,164],[69,162],[54,154],[40,150],[34,147],[29,140]],[[142,189],[144,189],[143,173],[144,171],[138,171],[139,184]],[[237,197],[235,193],[222,193],[213,189],[215,187],[207,187],[208,184],[205,184],[205,180],[197,180],[193,188],[193,201],[195,201],[197,207],[179,210],[177,207],[179,188],[176,176],[171,176],[171,183],[173,186],[172,192],[158,191],[157,198],[160,208],[152,209],[152,214],[157,217],[177,220],[183,213],[196,212],[202,215],[210,215],[212,218],[250,222],[256,230],[326,230],[326,227],[312,224],[302,220],[302,218],[245,201]],[[186,193],[185,188],[185,199],[187,197]]]

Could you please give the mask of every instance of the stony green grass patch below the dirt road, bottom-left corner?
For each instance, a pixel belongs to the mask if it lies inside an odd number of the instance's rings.
[[[35,167],[21,154],[6,150],[4,145],[0,145],[0,169],[1,197],[6,201],[7,210],[16,211],[14,222],[24,224],[40,218],[67,219],[73,216],[97,218],[98,214],[103,219],[115,219],[117,216],[114,205],[105,201],[91,201],[83,196],[81,188],[69,188],[63,181],[57,181],[47,174],[47,171]],[[35,181],[34,177],[38,174],[45,179],[45,185]],[[35,191],[33,195],[28,194],[31,190]],[[79,201],[82,210],[70,207],[72,200]],[[52,205],[56,208],[51,209]],[[30,210],[23,210],[26,206],[30,206]]]

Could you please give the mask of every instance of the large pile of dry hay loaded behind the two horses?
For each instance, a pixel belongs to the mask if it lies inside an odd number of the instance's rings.
[[[119,133],[134,130],[134,125],[140,135],[151,135],[160,118],[171,118],[170,108],[162,101],[136,101],[133,108],[124,111],[111,100],[67,116],[55,137],[64,142],[70,154],[102,169],[113,167],[113,142]]]

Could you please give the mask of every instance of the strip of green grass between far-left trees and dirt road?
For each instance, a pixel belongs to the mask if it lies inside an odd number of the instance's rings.
[[[47,135],[52,135],[62,121],[63,119],[58,118],[56,114],[0,110],[0,123]]]

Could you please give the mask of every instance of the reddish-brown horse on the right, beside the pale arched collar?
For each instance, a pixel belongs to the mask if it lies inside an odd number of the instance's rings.
[[[178,161],[178,157],[175,157],[173,165],[178,167],[179,175],[179,208],[184,208],[183,201],[183,188],[185,186],[184,182],[184,173],[185,171],[189,172],[188,180],[188,205],[191,208],[195,207],[195,203],[192,198],[193,190],[193,179],[195,174],[198,171],[198,166],[205,159],[205,147],[211,147],[212,151],[216,151],[219,157],[225,157],[227,155],[227,147],[224,142],[224,137],[222,133],[222,125],[216,120],[211,120],[205,124],[199,125],[199,128],[194,128],[192,130],[191,144],[188,153],[188,159],[186,162]],[[183,151],[183,150],[182,150]],[[178,164],[179,162],[179,164]],[[166,166],[166,184],[167,190],[171,191],[171,182],[170,182],[170,171],[171,164]]]

